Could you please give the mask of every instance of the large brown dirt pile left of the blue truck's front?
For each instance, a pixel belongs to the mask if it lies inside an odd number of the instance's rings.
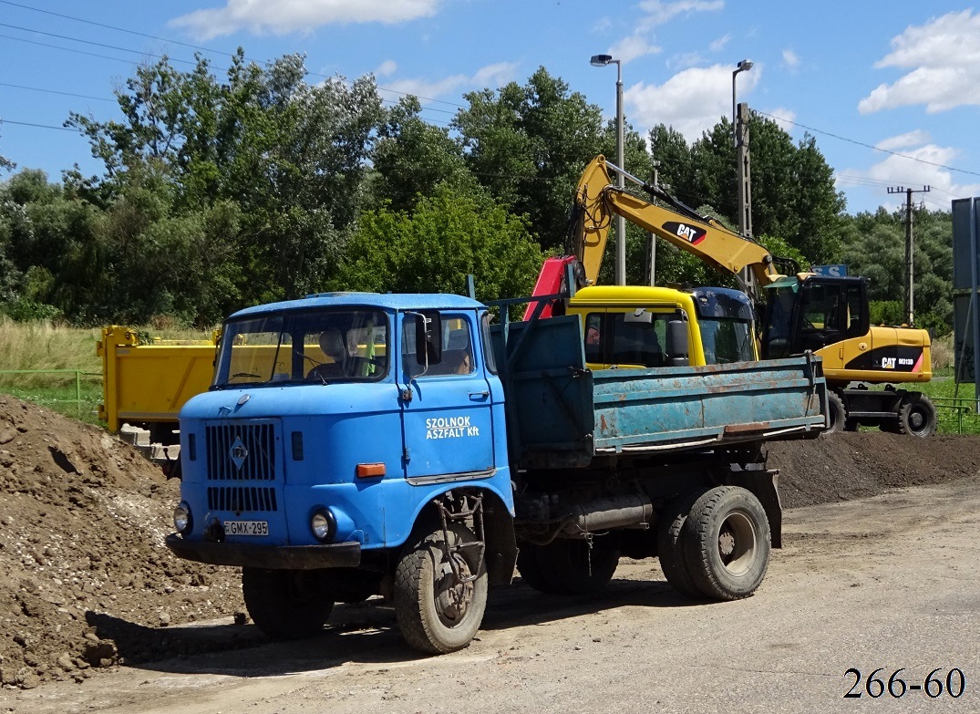
[[[119,439],[0,396],[0,684],[200,651],[166,626],[243,609],[237,573],[163,545],[177,494]]]

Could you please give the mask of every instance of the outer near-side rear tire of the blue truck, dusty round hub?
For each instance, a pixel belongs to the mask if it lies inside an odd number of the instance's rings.
[[[681,535],[691,580],[718,600],[748,597],[769,565],[769,522],[759,499],[740,486],[702,495]]]

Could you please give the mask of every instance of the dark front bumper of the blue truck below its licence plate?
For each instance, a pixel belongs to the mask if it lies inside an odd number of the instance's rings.
[[[174,533],[167,536],[164,542],[178,558],[209,565],[237,565],[266,570],[357,568],[361,565],[361,543],[356,540],[328,545],[254,545],[184,540]]]

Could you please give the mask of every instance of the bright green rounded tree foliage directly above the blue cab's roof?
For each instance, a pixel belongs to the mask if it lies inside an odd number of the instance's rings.
[[[530,293],[544,256],[525,221],[478,193],[437,189],[412,213],[368,211],[333,289],[456,292],[476,278],[481,299]]]

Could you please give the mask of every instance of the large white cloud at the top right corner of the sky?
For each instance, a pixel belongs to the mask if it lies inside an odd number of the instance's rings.
[[[892,52],[875,67],[908,72],[861,99],[861,114],[918,104],[929,114],[980,105],[980,15],[964,10],[909,26],[892,38]]]

